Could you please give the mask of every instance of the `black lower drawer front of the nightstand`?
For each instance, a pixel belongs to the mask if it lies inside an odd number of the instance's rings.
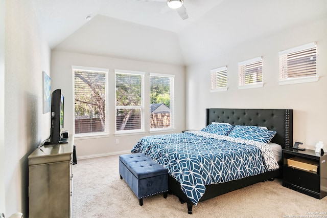
[[[315,192],[320,192],[319,175],[312,172],[285,166],[283,181]]]

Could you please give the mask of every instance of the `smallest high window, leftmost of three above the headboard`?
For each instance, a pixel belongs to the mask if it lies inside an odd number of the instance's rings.
[[[227,67],[213,69],[211,73],[211,92],[227,91]]]

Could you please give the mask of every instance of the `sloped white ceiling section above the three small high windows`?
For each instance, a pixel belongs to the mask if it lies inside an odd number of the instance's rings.
[[[326,18],[326,11],[325,0],[222,1],[178,33],[184,61],[202,63],[254,38]]]

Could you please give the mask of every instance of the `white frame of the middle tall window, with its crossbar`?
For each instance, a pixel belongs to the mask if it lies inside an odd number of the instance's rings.
[[[140,75],[141,76],[141,106],[117,106],[116,105],[116,74],[131,74],[131,75]],[[144,80],[145,80],[145,72],[142,71],[131,71],[131,70],[114,70],[114,99],[115,99],[115,109],[114,109],[114,117],[115,117],[115,135],[134,135],[134,134],[143,134],[145,133],[145,126],[144,126]],[[133,129],[133,130],[117,130],[117,118],[116,113],[118,109],[141,109],[141,128],[140,129]]]

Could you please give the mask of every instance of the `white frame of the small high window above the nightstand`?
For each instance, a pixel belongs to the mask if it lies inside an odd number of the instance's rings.
[[[315,69],[315,76],[303,76],[303,77],[297,77],[297,78],[292,78],[292,77],[285,77],[284,76],[284,70],[288,68],[288,65],[285,67],[283,58],[285,58],[285,55],[292,55],[297,52],[309,50],[315,48],[315,56],[316,56],[316,69]],[[287,84],[296,84],[296,83],[306,83],[306,82],[317,82],[319,80],[318,72],[317,72],[317,43],[316,42],[310,42],[302,46],[294,47],[291,49],[283,50],[278,52],[279,56],[279,79],[278,79],[278,84],[279,85],[287,85]],[[286,57],[287,58],[287,57]],[[287,61],[287,59],[286,59]]]

